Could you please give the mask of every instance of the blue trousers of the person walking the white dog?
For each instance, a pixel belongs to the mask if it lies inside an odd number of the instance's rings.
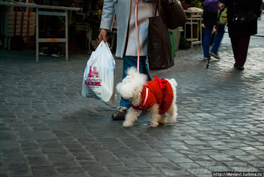
[[[149,75],[149,68],[146,62],[147,56],[139,56],[139,72],[146,74],[148,76],[148,80],[151,81],[151,77]],[[126,71],[131,66],[137,68],[137,56],[124,56],[123,57],[123,79],[127,76]],[[130,108],[130,101],[121,97],[120,106],[126,106]]]

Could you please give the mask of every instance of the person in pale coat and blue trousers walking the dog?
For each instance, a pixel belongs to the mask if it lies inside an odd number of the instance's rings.
[[[104,0],[102,19],[100,24],[99,42],[107,41],[107,31],[112,30],[114,17],[117,18],[117,47],[116,56],[123,57],[123,78],[127,76],[126,70],[134,66],[137,68],[137,34],[135,26],[135,7],[137,6],[137,28],[139,43],[139,72],[147,74],[149,80],[149,68],[147,59],[147,35],[149,19],[154,16],[155,0]],[[124,120],[130,101],[121,98],[120,107],[112,114],[116,120]]]

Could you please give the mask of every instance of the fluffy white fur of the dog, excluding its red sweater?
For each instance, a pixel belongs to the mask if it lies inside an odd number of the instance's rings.
[[[118,83],[116,88],[117,92],[120,95],[131,101],[134,106],[138,106],[141,101],[141,91],[144,84],[147,82],[147,76],[145,74],[141,74],[137,72],[135,67],[131,67],[127,69],[128,76],[125,77],[122,82]],[[150,108],[150,113],[152,114],[151,119],[151,127],[157,127],[159,123],[164,123],[165,118],[167,117],[168,122],[172,123],[176,121],[177,116],[177,106],[176,106],[176,86],[177,82],[175,79],[166,79],[171,84],[173,90],[173,100],[169,110],[160,115],[159,114],[159,105],[155,103]],[[132,127],[137,117],[140,115],[141,111],[135,110],[132,107],[127,110],[127,114],[125,116],[125,121],[123,122],[123,127]]]

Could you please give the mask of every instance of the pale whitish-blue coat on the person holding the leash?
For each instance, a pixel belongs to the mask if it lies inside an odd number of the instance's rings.
[[[100,28],[112,30],[112,24],[117,17],[117,48],[116,56],[123,57],[126,42],[126,56],[137,56],[137,38],[135,28],[136,0],[104,0]],[[139,39],[139,56],[147,56],[147,35],[149,19],[154,16],[155,1],[139,0],[137,9],[137,26]],[[129,27],[129,31],[128,31]],[[128,34],[128,40],[127,39]]]

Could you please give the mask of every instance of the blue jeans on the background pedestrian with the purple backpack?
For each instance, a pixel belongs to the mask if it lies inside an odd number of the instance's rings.
[[[204,31],[204,57],[209,57],[209,48],[211,44],[211,37],[212,37],[212,30],[213,26],[206,26]],[[218,25],[217,34],[215,36],[215,41],[213,44],[212,52],[217,54],[218,47],[220,46],[221,40],[223,38],[223,35],[225,33],[225,25]]]

